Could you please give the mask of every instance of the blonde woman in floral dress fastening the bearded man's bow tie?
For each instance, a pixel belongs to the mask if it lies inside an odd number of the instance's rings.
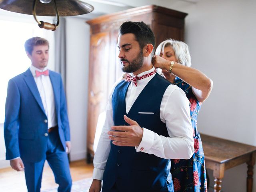
[[[155,68],[162,69],[164,77],[180,87],[190,101],[190,116],[194,133],[195,152],[189,160],[171,160],[171,173],[175,192],[207,192],[204,152],[200,134],[196,128],[197,115],[212,90],[212,80],[191,68],[188,45],[168,39],[156,49],[152,58]]]

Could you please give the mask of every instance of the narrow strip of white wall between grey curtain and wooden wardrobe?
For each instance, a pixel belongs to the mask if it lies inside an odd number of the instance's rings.
[[[70,160],[86,158],[90,27],[84,19],[66,18],[66,95],[72,150]]]

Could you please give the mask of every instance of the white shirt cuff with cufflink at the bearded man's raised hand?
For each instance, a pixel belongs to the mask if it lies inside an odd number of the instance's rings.
[[[146,128],[143,129],[142,140],[138,147],[135,147],[136,152],[145,152],[153,146],[154,143],[154,132]]]

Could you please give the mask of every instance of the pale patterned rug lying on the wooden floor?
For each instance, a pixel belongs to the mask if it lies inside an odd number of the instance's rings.
[[[72,183],[71,192],[88,192],[91,184],[92,184],[92,178],[74,181]],[[41,192],[57,192],[57,187],[51,188],[48,190],[41,190]]]

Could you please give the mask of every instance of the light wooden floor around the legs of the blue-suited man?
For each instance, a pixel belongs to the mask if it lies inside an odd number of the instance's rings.
[[[70,172],[73,181],[92,177],[93,165],[87,164],[86,160],[70,163]],[[48,165],[44,166],[41,189],[57,187],[54,175]],[[26,192],[26,181],[24,172],[17,172],[12,168],[0,169],[0,191],[2,192]]]

